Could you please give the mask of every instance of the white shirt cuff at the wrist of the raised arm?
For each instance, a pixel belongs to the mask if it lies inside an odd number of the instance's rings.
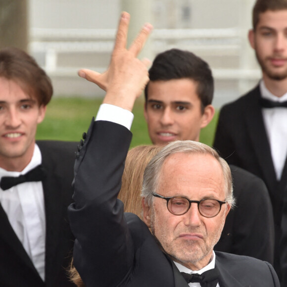
[[[99,106],[96,121],[109,121],[126,127],[131,130],[134,114],[121,107],[102,103]]]

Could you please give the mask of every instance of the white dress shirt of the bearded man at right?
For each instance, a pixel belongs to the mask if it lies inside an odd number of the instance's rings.
[[[260,81],[259,87],[263,98],[278,102],[287,100],[287,93],[281,97],[272,95],[267,90],[263,80]],[[279,181],[287,157],[287,108],[262,108],[262,114],[271,148],[276,177]]]

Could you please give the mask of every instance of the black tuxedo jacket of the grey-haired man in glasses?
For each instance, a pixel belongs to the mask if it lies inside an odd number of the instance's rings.
[[[77,154],[68,209],[75,267],[87,287],[188,287],[144,222],[124,214],[117,199],[131,137],[121,125],[92,122]],[[220,287],[279,287],[267,262],[216,252],[216,266]]]

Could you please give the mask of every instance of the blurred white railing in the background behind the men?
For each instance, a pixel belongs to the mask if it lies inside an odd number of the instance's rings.
[[[30,31],[30,53],[43,54],[43,68],[52,76],[76,76],[78,66],[61,66],[60,53],[107,53],[113,49],[115,29],[36,29]],[[246,41],[245,39],[243,41]],[[228,29],[155,29],[151,34],[151,50],[155,55],[169,48],[198,51],[208,56],[242,54],[241,37],[238,28]],[[105,67],[89,67],[103,71]],[[218,79],[256,79],[259,70],[213,69]]]

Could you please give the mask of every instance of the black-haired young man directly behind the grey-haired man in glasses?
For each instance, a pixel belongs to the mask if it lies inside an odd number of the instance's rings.
[[[148,72],[144,117],[152,143],[198,142],[200,130],[215,111],[208,64],[190,51],[171,49],[158,54]],[[231,165],[231,172],[236,207],[229,212],[214,249],[273,263],[274,223],[266,186],[239,167]]]

